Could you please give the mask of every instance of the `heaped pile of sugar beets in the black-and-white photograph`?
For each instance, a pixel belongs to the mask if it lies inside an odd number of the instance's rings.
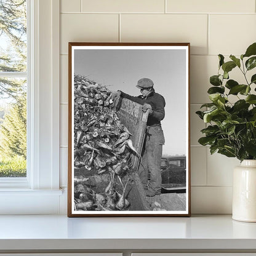
[[[114,105],[106,86],[74,76],[74,210],[129,209],[126,188],[137,152]],[[97,191],[90,178],[104,174],[105,190]]]

